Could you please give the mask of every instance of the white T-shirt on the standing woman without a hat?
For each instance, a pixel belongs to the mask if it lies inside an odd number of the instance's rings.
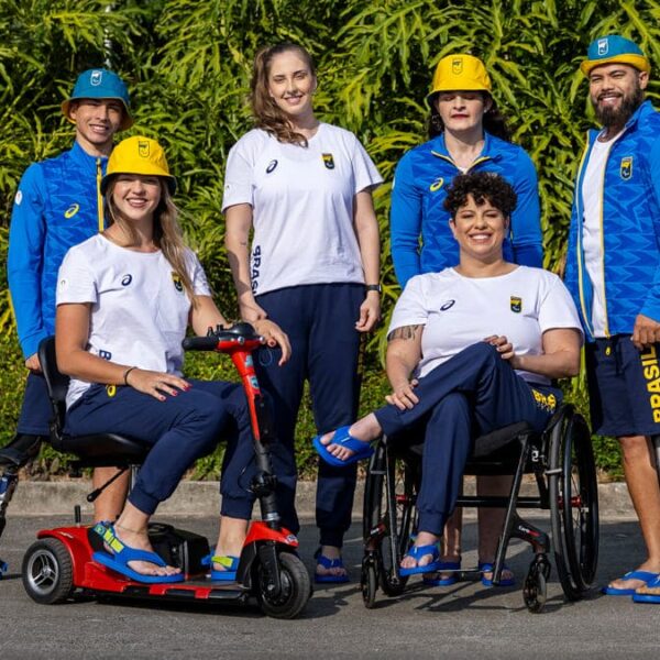
[[[222,210],[253,211],[255,295],[305,284],[364,283],[355,195],[383,182],[350,131],[321,123],[308,146],[255,129],[231,148]]]

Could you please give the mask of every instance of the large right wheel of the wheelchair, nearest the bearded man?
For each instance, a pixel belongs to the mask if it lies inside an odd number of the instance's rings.
[[[588,427],[572,408],[552,431],[549,473],[557,572],[566,598],[578,601],[598,560],[598,484]]]

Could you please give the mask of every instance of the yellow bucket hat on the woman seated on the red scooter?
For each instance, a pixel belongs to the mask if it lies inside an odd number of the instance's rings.
[[[110,154],[108,170],[101,179],[101,194],[106,195],[108,184],[118,174],[143,174],[161,176],[165,179],[169,194],[176,191],[176,179],[169,174],[163,147],[151,138],[133,135],[122,140]]]

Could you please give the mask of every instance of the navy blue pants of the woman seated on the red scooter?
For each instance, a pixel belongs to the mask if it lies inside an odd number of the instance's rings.
[[[197,459],[227,440],[221,514],[249,520],[254,449],[243,388],[221,381],[188,382],[188,392],[164,402],[132,387],[92,385],[68,410],[66,432],[120,433],[152,444],[129,495],[131,504],[148,515],[172,495]]]

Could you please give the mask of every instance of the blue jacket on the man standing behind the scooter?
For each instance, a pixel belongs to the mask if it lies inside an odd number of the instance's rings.
[[[103,228],[99,184],[107,163],[76,142],[23,174],[11,215],[7,271],[25,358],[55,332],[55,289],[64,255]]]

